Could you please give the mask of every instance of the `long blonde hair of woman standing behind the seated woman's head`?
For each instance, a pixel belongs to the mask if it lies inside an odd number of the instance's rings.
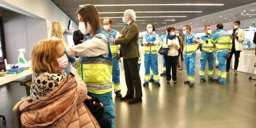
[[[59,22],[59,21],[52,22],[51,37],[52,36],[55,36],[56,38],[61,40],[61,43],[62,43],[64,48],[67,47],[67,44],[66,44],[66,42],[64,40],[64,36],[63,36],[63,28],[62,28],[62,23],[61,22]]]

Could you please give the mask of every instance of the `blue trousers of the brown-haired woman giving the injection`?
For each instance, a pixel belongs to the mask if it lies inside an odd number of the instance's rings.
[[[88,92],[88,95],[91,97],[97,97],[99,99],[99,102],[101,102],[104,105],[104,113],[102,117],[108,119],[111,122],[111,128],[115,128],[113,119],[116,117],[116,114],[114,113],[112,92],[104,94],[95,94]]]

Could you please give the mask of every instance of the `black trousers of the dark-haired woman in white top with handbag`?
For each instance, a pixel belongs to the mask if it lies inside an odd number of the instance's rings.
[[[178,55],[177,56],[164,56],[165,63],[166,63],[166,80],[170,81],[171,79],[173,81],[177,81],[177,61],[178,61]],[[172,76],[171,76],[171,68],[172,68]]]

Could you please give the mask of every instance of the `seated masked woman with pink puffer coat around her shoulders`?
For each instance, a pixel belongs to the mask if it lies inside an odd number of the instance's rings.
[[[20,105],[24,127],[99,128],[84,105],[87,87],[79,76],[64,73],[68,58],[60,40],[43,40],[32,49],[31,97]]]

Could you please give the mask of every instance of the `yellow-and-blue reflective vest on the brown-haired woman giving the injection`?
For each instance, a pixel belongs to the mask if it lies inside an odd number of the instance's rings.
[[[105,35],[108,39],[108,58],[99,55],[97,57],[79,57],[78,75],[87,85],[88,92],[104,94],[112,91],[111,74],[112,74],[112,54],[110,50],[108,35],[102,30],[96,32]],[[94,36],[94,37],[95,37]],[[85,38],[84,41],[94,37]]]

